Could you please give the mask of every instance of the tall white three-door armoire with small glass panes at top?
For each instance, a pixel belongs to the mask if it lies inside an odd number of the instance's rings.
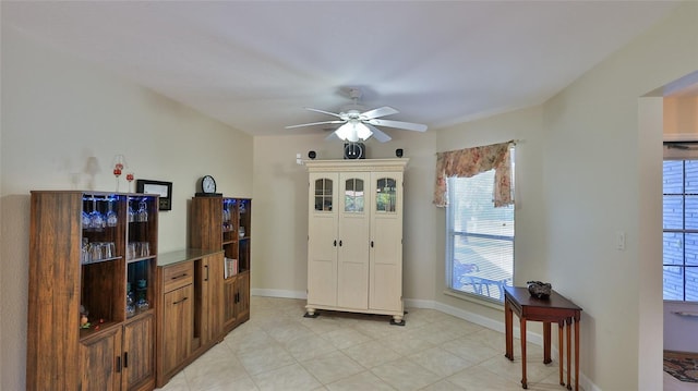
[[[402,176],[408,159],[311,160],[308,317],[402,316]]]

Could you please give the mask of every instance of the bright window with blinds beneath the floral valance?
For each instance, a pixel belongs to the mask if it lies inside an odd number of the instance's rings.
[[[446,281],[455,291],[504,302],[514,276],[514,206],[495,208],[493,186],[494,170],[448,179]]]

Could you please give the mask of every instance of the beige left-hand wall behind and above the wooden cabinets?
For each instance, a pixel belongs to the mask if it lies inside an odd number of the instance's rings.
[[[252,195],[252,137],[2,24],[0,154],[0,389],[23,390],[31,190],[115,191],[111,160],[124,154],[137,179],[173,183],[160,213],[159,249],[186,246],[188,199],[216,178],[227,195]],[[84,172],[95,158],[98,171]],[[125,182],[121,179],[121,190]]]

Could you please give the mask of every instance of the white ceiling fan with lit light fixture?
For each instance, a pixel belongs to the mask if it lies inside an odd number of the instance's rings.
[[[376,126],[387,126],[387,127],[395,127],[395,129],[401,129],[401,130],[414,131],[414,132],[426,131],[426,125],[423,125],[420,123],[381,120],[380,119],[381,117],[397,114],[399,112],[389,106],[384,106],[377,109],[363,111],[364,108],[358,103],[359,98],[361,97],[361,90],[359,90],[358,88],[350,88],[349,97],[351,98],[353,103],[342,109],[339,113],[334,113],[334,112],[312,109],[312,108],[305,108],[306,110],[310,110],[310,111],[321,112],[323,114],[336,117],[338,118],[338,120],[303,123],[300,125],[286,126],[286,129],[325,125],[325,124],[341,124],[339,127],[337,127],[335,132],[333,132],[329,136],[327,136],[326,139],[339,138],[339,139],[351,142],[351,143],[365,140],[371,136],[375,137],[375,139],[377,139],[381,143],[390,140],[390,136],[385,134],[383,131],[381,131]]]

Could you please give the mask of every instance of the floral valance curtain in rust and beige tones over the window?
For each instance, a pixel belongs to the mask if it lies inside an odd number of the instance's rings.
[[[514,140],[482,147],[452,150],[436,154],[436,188],[434,205],[444,208],[448,205],[446,179],[452,176],[470,178],[481,172],[494,172],[494,206],[514,204],[512,195],[512,159],[509,146]]]

